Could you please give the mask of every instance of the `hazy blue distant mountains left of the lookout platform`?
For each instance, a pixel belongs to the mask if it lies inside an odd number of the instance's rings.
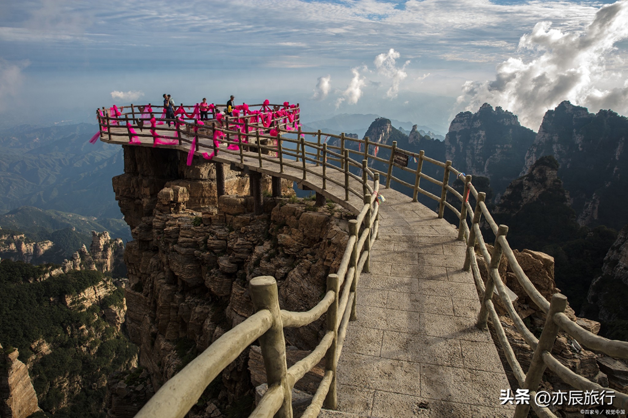
[[[89,138],[97,125],[19,125],[0,132],[0,209],[36,206],[84,216],[120,217],[111,178],[122,148]]]

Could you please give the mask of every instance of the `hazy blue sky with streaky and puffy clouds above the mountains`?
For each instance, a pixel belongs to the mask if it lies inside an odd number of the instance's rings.
[[[626,114],[628,0],[611,3],[0,0],[0,119],[78,122],[166,92],[441,132],[485,101],[534,130],[561,100]]]

